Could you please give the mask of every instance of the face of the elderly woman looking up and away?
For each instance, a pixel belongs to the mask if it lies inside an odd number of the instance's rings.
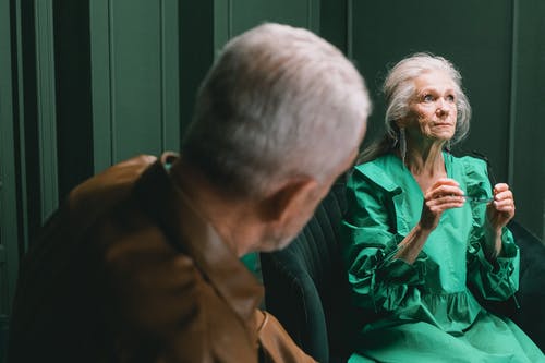
[[[456,131],[456,84],[445,72],[429,71],[414,78],[415,95],[400,125],[413,137],[448,141]]]

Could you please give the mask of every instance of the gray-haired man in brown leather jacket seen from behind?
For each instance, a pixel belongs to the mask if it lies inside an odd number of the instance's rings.
[[[240,263],[286,246],[351,166],[370,100],[312,33],[264,24],[201,86],[181,156],[75,187],[22,270],[11,362],[305,362]]]

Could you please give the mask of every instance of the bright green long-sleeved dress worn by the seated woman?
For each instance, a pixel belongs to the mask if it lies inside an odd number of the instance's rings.
[[[491,196],[483,160],[444,157],[465,195]],[[484,257],[485,204],[446,210],[410,265],[393,256],[419,222],[424,197],[401,160],[387,154],[356,166],[347,197],[341,231],[353,301],[373,316],[350,362],[545,362],[514,323],[473,295],[501,301],[518,289],[519,249],[507,228],[501,255],[493,264]]]

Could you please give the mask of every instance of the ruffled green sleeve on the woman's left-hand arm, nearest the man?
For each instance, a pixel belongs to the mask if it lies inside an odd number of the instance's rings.
[[[347,183],[348,217],[341,233],[349,280],[360,307],[375,312],[397,310],[424,282],[424,252],[412,265],[393,258],[404,238],[396,223],[396,196],[401,193],[386,176],[378,184],[358,167]]]

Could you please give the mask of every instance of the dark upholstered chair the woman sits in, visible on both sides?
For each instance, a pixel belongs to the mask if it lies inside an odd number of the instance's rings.
[[[261,254],[266,308],[318,362],[346,362],[353,329],[362,324],[340,256],[346,204],[344,184],[337,182],[293,243]],[[510,316],[545,351],[545,246],[516,221],[509,228],[521,250],[520,308],[511,299],[492,310]]]

